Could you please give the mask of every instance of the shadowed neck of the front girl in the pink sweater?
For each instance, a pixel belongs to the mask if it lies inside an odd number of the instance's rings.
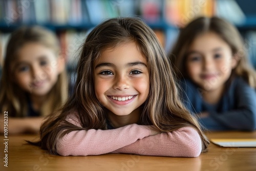
[[[140,109],[136,109],[129,115],[119,116],[109,111],[108,119],[110,120],[111,125],[113,127],[118,128],[125,125],[138,123],[140,120],[140,112],[141,112]]]

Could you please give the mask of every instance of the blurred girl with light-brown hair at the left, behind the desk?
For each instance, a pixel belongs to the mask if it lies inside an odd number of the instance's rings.
[[[8,133],[39,133],[42,118],[67,99],[65,61],[54,33],[37,26],[13,32],[0,85],[0,111],[8,114]]]

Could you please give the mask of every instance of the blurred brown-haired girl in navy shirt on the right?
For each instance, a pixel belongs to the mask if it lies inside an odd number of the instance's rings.
[[[218,17],[183,28],[170,58],[183,100],[208,130],[256,128],[256,73],[238,30]]]

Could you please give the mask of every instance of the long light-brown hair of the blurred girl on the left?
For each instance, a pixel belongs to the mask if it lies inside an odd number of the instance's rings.
[[[18,52],[25,44],[37,42],[51,48],[56,57],[60,53],[59,42],[56,35],[39,26],[21,27],[14,31],[7,45],[4,61],[1,89],[0,111],[8,111],[13,117],[26,117],[28,115],[27,92],[22,90],[13,80],[13,62],[18,58]],[[41,116],[46,116],[60,107],[68,96],[68,83],[66,71],[58,75],[58,80],[49,92],[48,99],[42,105]]]

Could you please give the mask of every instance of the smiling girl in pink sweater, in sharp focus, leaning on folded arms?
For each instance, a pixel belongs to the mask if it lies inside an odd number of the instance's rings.
[[[74,94],[42,124],[38,145],[62,156],[199,156],[208,141],[169,64],[140,19],[106,20],[84,42]]]

